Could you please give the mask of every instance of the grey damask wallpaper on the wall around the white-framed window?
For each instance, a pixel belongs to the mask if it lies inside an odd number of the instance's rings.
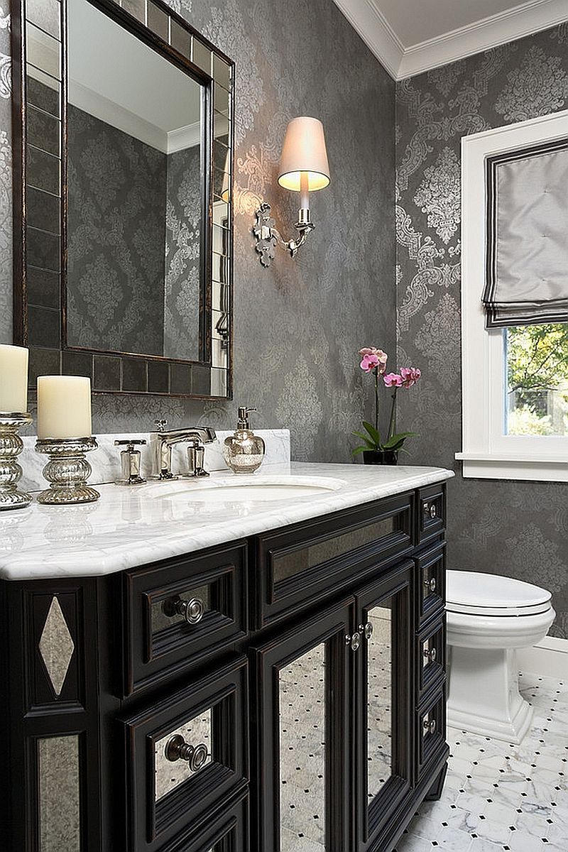
[[[568,23],[397,85],[399,362],[422,367],[400,423],[411,460],[456,470],[450,567],[553,592],[568,636],[568,485],[462,478],[460,139],[568,108]]]

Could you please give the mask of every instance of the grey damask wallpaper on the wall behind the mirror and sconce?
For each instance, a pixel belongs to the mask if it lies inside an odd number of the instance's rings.
[[[234,388],[227,403],[97,395],[99,432],[236,422],[289,427],[293,455],[347,462],[371,394],[356,353],[395,347],[394,83],[332,0],[171,0],[236,60]],[[11,340],[9,9],[0,0],[0,340]],[[317,85],[314,84],[317,81]],[[313,193],[316,230],[292,260],[261,268],[250,227],[262,199],[288,237],[298,197],[278,187],[290,118],[321,118],[330,187]]]

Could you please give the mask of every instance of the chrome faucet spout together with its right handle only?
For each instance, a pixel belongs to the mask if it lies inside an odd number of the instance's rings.
[[[204,444],[216,439],[215,429],[209,426],[188,426],[186,429],[166,429],[167,420],[156,420],[156,430],[150,433],[152,479],[175,480],[178,475],[171,470],[171,448],[186,443],[188,470],[183,477],[209,476],[204,469]]]

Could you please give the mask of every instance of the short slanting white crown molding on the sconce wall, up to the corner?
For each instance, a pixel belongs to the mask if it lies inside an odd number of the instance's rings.
[[[371,53],[396,80],[404,46],[373,0],[334,0]]]

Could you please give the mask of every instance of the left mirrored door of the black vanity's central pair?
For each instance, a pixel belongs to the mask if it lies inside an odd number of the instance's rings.
[[[258,852],[351,852],[353,598],[254,649]]]

